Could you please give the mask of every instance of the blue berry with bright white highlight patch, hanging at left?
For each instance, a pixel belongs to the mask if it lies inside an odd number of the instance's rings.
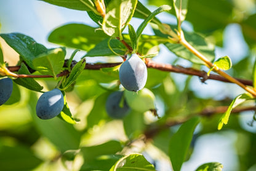
[[[64,107],[63,94],[59,89],[42,93],[36,103],[36,114],[41,119],[51,119],[62,111]]]

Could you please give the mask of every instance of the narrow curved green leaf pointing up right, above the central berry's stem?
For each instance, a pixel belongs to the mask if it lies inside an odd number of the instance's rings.
[[[148,23],[150,23],[150,21],[154,18],[154,16],[158,15],[161,12],[170,10],[171,7],[164,5],[159,7],[158,9],[154,10],[154,12],[152,12],[150,15],[148,15],[148,17],[140,24],[140,26],[138,26],[138,30],[136,31],[137,34],[137,38],[140,38],[140,35],[142,34],[142,31],[145,29],[146,25],[148,25]]]

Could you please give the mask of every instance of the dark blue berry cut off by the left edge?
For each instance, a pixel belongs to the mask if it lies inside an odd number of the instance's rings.
[[[4,78],[0,79],[0,106],[10,98],[12,94],[12,79]]]

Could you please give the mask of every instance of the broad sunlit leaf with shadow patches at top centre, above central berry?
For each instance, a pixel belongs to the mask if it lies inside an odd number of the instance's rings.
[[[102,29],[108,36],[119,37],[122,40],[122,30],[130,22],[137,0],[113,0],[106,7]]]

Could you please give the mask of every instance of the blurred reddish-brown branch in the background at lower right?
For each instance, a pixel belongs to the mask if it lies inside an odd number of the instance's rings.
[[[150,125],[149,126],[150,129],[147,129],[144,132],[144,135],[145,135],[146,139],[151,139],[155,135],[158,135],[158,133],[161,130],[169,129],[169,127],[172,127],[172,126],[175,126],[175,125],[178,125],[178,124],[183,124],[184,122],[188,121],[188,119],[190,119],[193,116],[209,117],[209,116],[212,116],[214,114],[225,113],[227,109],[228,109],[228,106],[218,106],[218,107],[206,108],[206,109],[202,110],[201,113],[191,114],[189,117],[185,117],[185,118],[182,118],[182,119],[177,119],[177,120],[172,119],[172,121],[167,121],[163,125]],[[231,114],[237,114],[237,113],[240,113],[242,111],[255,111],[255,110],[256,110],[256,106],[243,106],[243,107],[234,108],[231,111]]]

